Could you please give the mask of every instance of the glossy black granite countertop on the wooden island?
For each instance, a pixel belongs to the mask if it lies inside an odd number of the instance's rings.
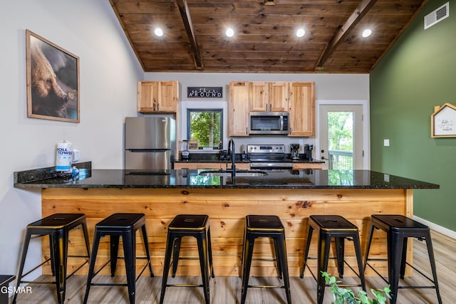
[[[80,175],[53,167],[14,172],[14,187],[27,188],[212,188],[212,189],[438,189],[439,185],[369,170],[271,170],[261,177],[200,176],[203,170],[91,169]]]

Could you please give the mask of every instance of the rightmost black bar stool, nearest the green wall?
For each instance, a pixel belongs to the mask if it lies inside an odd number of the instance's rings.
[[[388,243],[388,259],[370,259],[368,258],[369,249],[371,248],[371,242],[373,237],[373,231],[375,229],[381,229],[387,234],[387,243]],[[431,278],[426,276],[424,273],[419,271],[414,266],[410,265],[406,261],[407,258],[407,240],[408,238],[416,238],[420,241],[426,241],[427,254],[429,255],[430,267],[432,271],[433,281]],[[368,261],[385,261],[388,260],[388,281],[383,278],[383,276],[376,271],[373,266],[371,266]],[[431,286],[399,286],[399,277],[404,278],[405,274],[405,265],[408,265],[418,271],[429,280],[434,283]],[[366,249],[366,256],[364,258],[364,269],[366,266],[369,266],[377,273],[380,277],[383,278],[383,281],[390,284],[391,289],[391,304],[395,304],[398,298],[398,289],[399,288],[435,288],[437,293],[437,299],[440,304],[442,304],[442,298],[440,298],[439,286],[437,283],[437,271],[435,269],[435,260],[434,260],[434,251],[432,250],[432,240],[430,237],[429,227],[409,219],[406,216],[402,215],[380,215],[373,214],[371,216],[371,230],[368,235],[368,246]]]

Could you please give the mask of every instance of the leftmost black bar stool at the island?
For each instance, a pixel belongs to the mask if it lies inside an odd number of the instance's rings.
[[[82,227],[84,240],[86,241],[87,256],[69,256],[68,255],[68,232],[71,229]],[[28,244],[31,239],[36,239],[42,236],[49,236],[49,251],[50,258],[43,261],[35,268],[31,269],[25,274],[24,263],[26,261]],[[68,256],[72,258],[86,258],[86,261],[76,268],[73,273],[66,275],[66,265]],[[24,239],[24,246],[21,253],[21,261],[19,261],[19,271],[17,275],[16,288],[19,288],[21,283],[50,283],[56,284],[57,300],[59,304],[63,304],[65,301],[66,291],[66,279],[73,276],[76,271],[81,269],[87,262],[90,256],[90,248],[88,242],[88,231],[86,224],[86,216],[84,214],[52,214],[46,216],[43,219],[35,221],[27,225],[26,236]],[[27,276],[32,271],[35,271],[38,267],[43,266],[44,263],[51,261],[52,275],[56,277],[56,281],[24,281],[22,278]],[[16,303],[17,293],[14,293],[12,303]]]

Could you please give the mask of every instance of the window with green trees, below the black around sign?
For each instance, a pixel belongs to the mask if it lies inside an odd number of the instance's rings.
[[[223,110],[187,109],[187,135],[189,140],[197,140],[199,149],[222,147]]]

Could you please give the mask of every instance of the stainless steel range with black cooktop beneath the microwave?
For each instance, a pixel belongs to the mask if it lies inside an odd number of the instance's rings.
[[[285,145],[247,145],[251,169],[291,169],[293,162],[285,153]]]

